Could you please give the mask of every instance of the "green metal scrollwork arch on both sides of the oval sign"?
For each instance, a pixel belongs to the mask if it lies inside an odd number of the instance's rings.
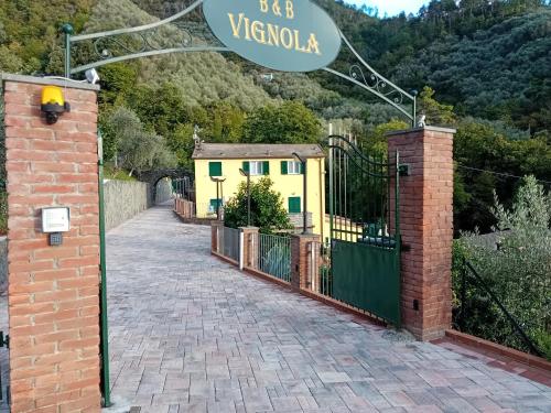
[[[105,31],[100,33],[72,35],[72,28],[64,25],[65,39],[65,76],[82,73],[90,68],[110,63],[148,57],[169,53],[184,52],[231,52],[214,35],[206,22],[184,21],[203,4],[204,0],[195,0],[184,10],[158,22],[136,26]],[[339,31],[341,39],[352,52],[356,62],[348,72],[324,67],[323,69],[357,85],[391,105],[414,124],[415,97],[377,73],[354,50],[352,44]],[[95,59],[72,68],[72,46],[89,47]]]

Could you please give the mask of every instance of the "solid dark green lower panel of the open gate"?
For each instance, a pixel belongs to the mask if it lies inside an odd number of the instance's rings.
[[[399,250],[333,240],[333,297],[400,326]]]

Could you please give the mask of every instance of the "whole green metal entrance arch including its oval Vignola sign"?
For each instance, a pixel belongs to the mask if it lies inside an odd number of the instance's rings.
[[[151,42],[161,26],[176,22],[201,6],[210,26],[206,36],[195,36],[193,30],[180,25],[182,41],[171,43],[169,40],[163,45]],[[72,74],[132,58],[169,53],[235,52],[281,72],[323,69],[374,94],[408,117],[413,126],[415,122],[415,96],[369,66],[327,13],[310,0],[193,0],[184,10],[153,23],[78,35],[73,35],[73,28],[64,24],[63,32],[65,77],[68,78]],[[73,68],[72,46],[83,42],[91,42],[89,46],[98,59]],[[358,62],[348,73],[328,67],[338,55],[341,42]]]

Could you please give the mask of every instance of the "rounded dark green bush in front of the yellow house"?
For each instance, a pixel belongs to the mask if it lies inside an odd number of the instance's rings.
[[[264,176],[250,183],[251,226],[260,232],[272,233],[291,229],[281,194],[274,192],[272,181]],[[239,184],[237,194],[224,206],[224,225],[230,228],[247,226],[247,184]]]

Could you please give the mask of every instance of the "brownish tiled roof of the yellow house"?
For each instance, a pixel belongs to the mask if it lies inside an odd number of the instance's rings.
[[[324,157],[322,148],[317,143],[288,144],[288,143],[201,143],[195,146],[194,160],[226,160],[226,159],[273,159],[293,157],[296,152],[302,157]]]

